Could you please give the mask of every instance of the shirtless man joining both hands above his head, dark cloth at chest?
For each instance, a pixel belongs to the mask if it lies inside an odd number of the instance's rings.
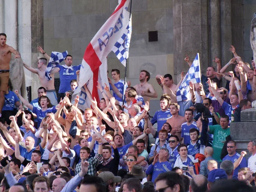
[[[66,119],[64,119],[61,116],[61,111],[64,108],[64,106],[70,106],[71,110],[70,112],[67,112]],[[67,110],[65,110],[67,111]],[[84,123],[84,118],[82,113],[79,111],[78,108],[73,106],[70,103],[70,100],[67,96],[64,97],[62,100],[61,106],[58,108],[57,112],[54,114],[55,119],[64,126],[64,132],[71,136],[71,144],[70,148],[73,149],[73,147],[77,144],[76,141],[79,139],[81,127]]]

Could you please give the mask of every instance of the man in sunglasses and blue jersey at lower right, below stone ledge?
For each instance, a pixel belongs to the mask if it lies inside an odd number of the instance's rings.
[[[227,156],[225,156],[222,160],[230,160],[233,163],[235,163],[239,157],[241,156],[240,154],[238,154],[236,152],[236,142],[233,140],[230,140],[227,143]],[[236,169],[234,170],[234,174],[233,174],[233,179],[237,179],[238,177],[238,170],[243,168],[243,167],[247,167],[247,162],[245,158],[242,158],[241,163],[239,163],[239,166],[236,167]]]

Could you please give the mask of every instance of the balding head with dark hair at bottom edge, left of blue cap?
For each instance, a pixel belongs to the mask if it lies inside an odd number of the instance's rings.
[[[192,177],[189,185],[189,192],[207,192],[208,180],[204,175]]]

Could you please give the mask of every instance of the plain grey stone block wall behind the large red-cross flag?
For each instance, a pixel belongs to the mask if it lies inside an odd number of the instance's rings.
[[[47,53],[68,50],[73,63],[80,64],[85,48],[117,4],[118,0],[44,0],[44,50]],[[127,81],[138,84],[140,70],[148,70],[149,83],[159,97],[162,90],[155,76],[174,74],[172,18],[172,0],[132,0]],[[158,31],[157,42],[148,42],[148,31]],[[124,78],[125,67],[111,52],[108,69],[113,68],[119,69]],[[159,108],[158,99],[151,99],[151,115]]]

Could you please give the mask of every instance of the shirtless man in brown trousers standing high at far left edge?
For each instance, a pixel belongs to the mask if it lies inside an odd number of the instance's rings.
[[[4,105],[4,94],[7,91],[7,85],[10,75],[10,61],[12,53],[15,58],[20,58],[20,53],[13,49],[13,47],[6,44],[6,34],[0,33],[0,117],[2,116],[2,108]]]

